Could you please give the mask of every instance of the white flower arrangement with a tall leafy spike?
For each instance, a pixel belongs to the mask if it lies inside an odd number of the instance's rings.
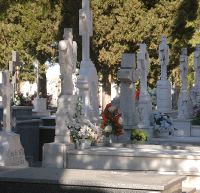
[[[68,124],[73,142],[81,143],[84,140],[96,141],[98,138],[98,127],[91,123],[82,113],[82,100],[78,98],[75,114]]]

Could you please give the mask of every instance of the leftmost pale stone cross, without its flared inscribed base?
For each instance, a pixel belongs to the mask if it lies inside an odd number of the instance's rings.
[[[9,71],[2,72],[3,81],[0,84],[0,95],[3,98],[3,130],[11,132],[11,97],[13,95],[13,86],[9,80]]]

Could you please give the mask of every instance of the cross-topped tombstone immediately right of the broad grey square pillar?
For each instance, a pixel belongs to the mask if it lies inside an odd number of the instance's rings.
[[[147,90],[147,76],[149,73],[149,54],[146,44],[140,44],[137,54],[137,68],[140,76],[140,96],[138,103],[138,128],[148,129],[150,127],[150,116],[152,113],[151,97]]]

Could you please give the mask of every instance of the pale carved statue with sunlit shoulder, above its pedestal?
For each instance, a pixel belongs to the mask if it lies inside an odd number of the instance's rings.
[[[72,74],[76,70],[77,44],[73,41],[72,29],[64,29],[64,40],[59,42],[59,64],[61,72],[61,94],[73,94]]]

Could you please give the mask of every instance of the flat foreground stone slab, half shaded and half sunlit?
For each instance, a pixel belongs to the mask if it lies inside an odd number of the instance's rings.
[[[4,193],[181,193],[184,179],[128,171],[55,168],[0,171],[0,187]]]

